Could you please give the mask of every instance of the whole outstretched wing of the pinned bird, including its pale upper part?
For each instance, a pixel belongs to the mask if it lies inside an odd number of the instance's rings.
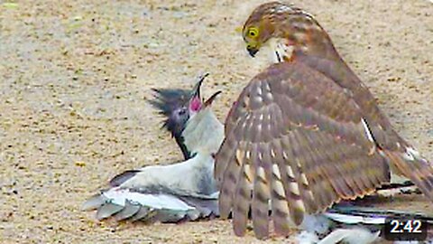
[[[185,162],[146,166],[116,175],[111,188],[90,198],[83,210],[97,219],[117,221],[196,221],[218,216],[213,158],[196,155]]]

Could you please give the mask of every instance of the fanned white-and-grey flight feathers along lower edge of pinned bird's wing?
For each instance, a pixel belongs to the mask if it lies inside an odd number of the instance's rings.
[[[217,197],[181,196],[164,192],[110,189],[85,202],[82,210],[97,210],[97,220],[180,222],[218,216]]]

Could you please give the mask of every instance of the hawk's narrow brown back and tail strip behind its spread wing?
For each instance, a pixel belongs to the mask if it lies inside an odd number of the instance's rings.
[[[374,143],[390,163],[392,173],[409,178],[433,202],[433,164],[423,158],[392,128],[389,119],[377,106],[373,94],[364,86],[345,61],[327,60],[297,53],[296,60],[327,76],[355,100],[371,129]]]

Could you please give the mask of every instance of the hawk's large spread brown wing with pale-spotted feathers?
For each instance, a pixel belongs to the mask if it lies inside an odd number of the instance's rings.
[[[363,113],[345,89],[300,62],[274,64],[244,89],[226,119],[216,157],[220,211],[243,235],[252,210],[258,238],[304,213],[363,196],[389,181],[389,168]]]

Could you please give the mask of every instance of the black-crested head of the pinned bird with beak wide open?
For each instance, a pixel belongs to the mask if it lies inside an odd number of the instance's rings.
[[[192,156],[191,150],[193,150],[185,145],[182,136],[189,118],[194,117],[203,108],[207,108],[221,93],[217,91],[206,101],[201,98],[201,84],[207,76],[208,73],[199,77],[193,89],[152,89],[155,93],[149,102],[165,117],[162,127],[175,138],[185,159]]]

